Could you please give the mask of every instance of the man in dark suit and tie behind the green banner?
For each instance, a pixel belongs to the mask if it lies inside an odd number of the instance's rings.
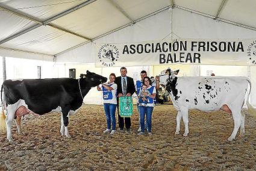
[[[127,70],[126,67],[121,67],[120,69],[121,76],[116,77],[116,81],[114,81],[117,84],[117,95],[120,96],[132,96],[135,92],[135,86],[133,78],[126,76]],[[118,98],[117,98],[117,105],[118,105]],[[130,131],[131,129],[131,118],[125,117],[123,120],[123,117],[120,117],[119,115],[119,109],[117,107],[117,113],[118,113],[118,125],[119,129],[123,130],[124,123],[126,131]]]

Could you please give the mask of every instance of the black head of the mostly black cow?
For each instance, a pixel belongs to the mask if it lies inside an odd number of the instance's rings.
[[[90,83],[91,87],[95,87],[103,82],[107,82],[107,78],[101,75],[98,75],[94,72],[90,72],[89,70],[86,71],[86,74],[83,75],[85,76],[85,79],[87,82]],[[81,77],[81,75],[80,75]]]

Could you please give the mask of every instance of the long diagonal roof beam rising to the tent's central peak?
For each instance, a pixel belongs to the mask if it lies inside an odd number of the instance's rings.
[[[139,18],[139,19],[137,19],[137,20],[134,20],[133,22],[126,23],[125,25],[119,26],[118,28],[116,28],[116,29],[114,29],[114,30],[108,31],[107,33],[101,34],[101,35],[99,35],[99,36],[93,38],[92,41],[97,40],[97,39],[99,39],[99,38],[101,38],[101,37],[107,36],[108,34],[114,33],[114,32],[116,32],[116,31],[119,31],[119,30],[121,30],[121,29],[123,29],[123,28],[126,28],[127,26],[132,26],[133,23],[136,23],[136,22],[139,22],[139,21],[141,21],[141,20],[147,19],[148,17],[154,16],[155,14],[161,13],[162,11],[168,10],[169,8],[171,8],[170,5],[168,5],[167,7],[161,8],[160,10],[157,10],[157,11],[151,13],[151,14],[148,14],[148,15],[146,15],[146,16],[143,16],[143,17],[141,17],[141,18]],[[57,56],[59,56],[59,55],[61,55],[61,54],[64,54],[65,52],[68,52],[68,51],[71,51],[71,50],[73,50],[73,49],[75,49],[75,48],[78,48],[78,47],[80,47],[80,46],[86,45],[87,43],[90,43],[90,42],[87,41],[87,42],[80,43],[79,45],[73,46],[72,48],[66,49],[65,51],[62,51],[62,52],[59,52],[58,54],[55,54],[55,56],[57,57]]]

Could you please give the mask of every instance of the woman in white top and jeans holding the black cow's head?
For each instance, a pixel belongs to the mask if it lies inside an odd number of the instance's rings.
[[[116,132],[116,90],[117,85],[114,83],[116,79],[116,75],[114,73],[110,73],[109,81],[107,84],[101,84],[97,86],[98,91],[102,91],[103,101],[104,101],[104,110],[107,119],[107,129],[103,131],[104,133],[109,133],[111,131],[111,123],[112,123],[112,131],[111,135]]]

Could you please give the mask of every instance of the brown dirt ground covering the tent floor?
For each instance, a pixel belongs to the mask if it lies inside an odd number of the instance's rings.
[[[25,136],[13,123],[13,143],[0,134],[2,170],[256,170],[256,119],[246,113],[245,137],[227,141],[233,131],[228,113],[192,110],[189,137],[174,135],[176,111],[157,105],[152,116],[152,136],[137,135],[137,108],[132,131],[104,134],[102,105],[83,105],[69,119],[71,138],[60,135],[60,114],[27,116]],[[118,128],[118,124],[117,124]],[[0,170],[1,170],[0,169]]]

